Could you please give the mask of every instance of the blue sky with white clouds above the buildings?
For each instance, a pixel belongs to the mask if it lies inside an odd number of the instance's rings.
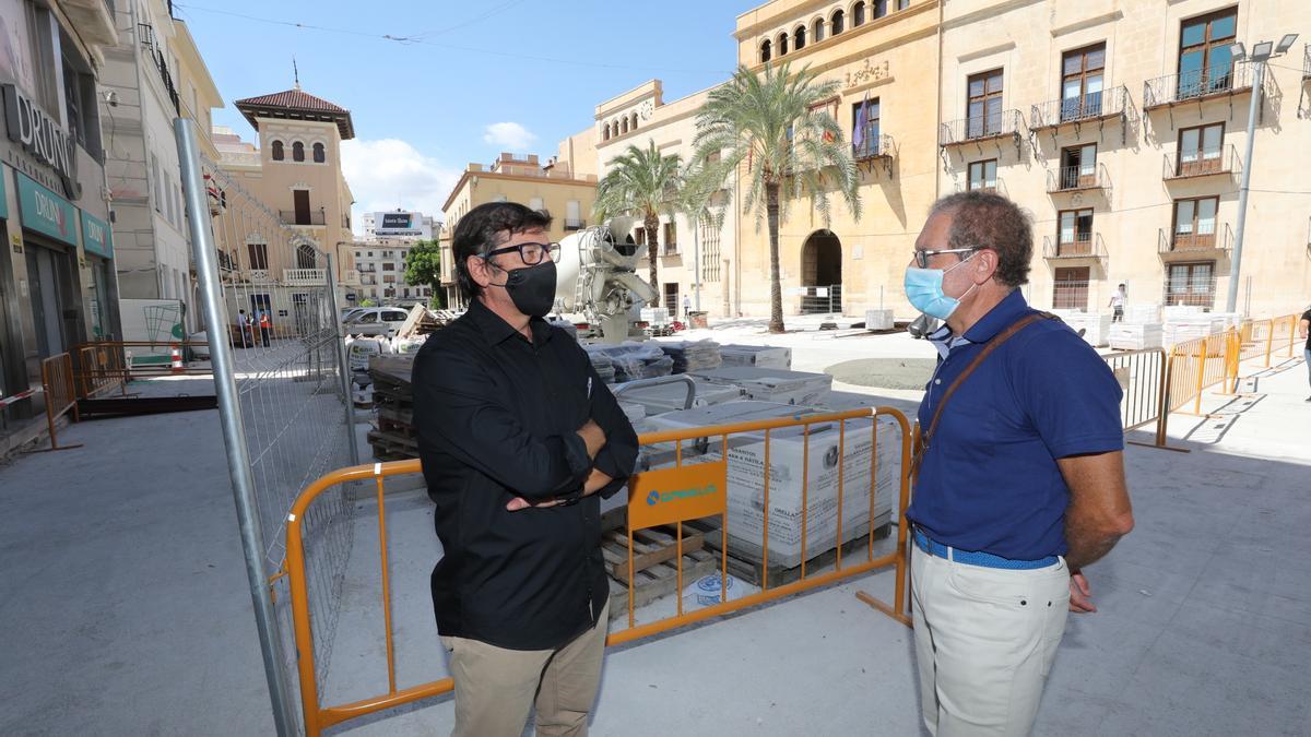
[[[235,100],[300,87],[346,108],[342,168],[361,212],[442,203],[471,161],[544,161],[597,104],[650,79],[665,101],[725,80],[737,59],[726,0],[174,0],[227,106],[215,125],[254,142]],[[392,39],[384,38],[391,35]]]

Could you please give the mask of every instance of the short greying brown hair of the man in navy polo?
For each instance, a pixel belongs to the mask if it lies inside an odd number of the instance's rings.
[[[950,215],[948,248],[990,248],[998,254],[998,282],[1028,283],[1033,224],[1019,205],[990,191],[961,191],[935,202],[928,215]]]

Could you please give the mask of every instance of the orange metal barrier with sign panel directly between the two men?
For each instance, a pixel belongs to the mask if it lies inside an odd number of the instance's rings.
[[[878,418],[890,417],[901,430],[901,472],[897,479],[898,498],[895,502],[895,509],[898,510],[897,519],[905,518],[906,508],[910,505],[910,451],[911,451],[911,430],[906,421],[906,417],[889,408],[877,409],[859,409],[851,412],[840,412],[832,414],[815,414],[809,417],[794,417],[784,420],[771,420],[771,421],[758,421],[758,422],[742,422],[735,425],[718,425],[711,428],[691,428],[684,430],[670,430],[661,433],[649,433],[640,437],[642,446],[654,446],[657,443],[674,445],[674,462],[671,467],[654,468],[650,471],[644,471],[635,475],[628,484],[629,489],[629,505],[628,505],[628,561],[629,561],[629,574],[628,574],[628,623],[629,627],[620,632],[614,632],[607,639],[608,645],[617,645],[621,643],[628,643],[632,640],[638,640],[641,637],[648,637],[659,632],[667,632],[670,629],[684,627],[695,622],[701,622],[733,611],[738,611],[746,607],[753,607],[763,605],[771,601],[780,599],[792,594],[815,589],[832,584],[835,581],[859,576],[861,573],[868,573],[871,570],[894,567],[895,568],[895,584],[894,584],[894,599],[891,605],[878,602],[872,597],[864,595],[861,601],[871,603],[876,608],[889,614],[890,616],[898,619],[899,622],[909,623],[910,619],[906,615],[907,607],[907,581],[909,581],[909,567],[907,567],[907,553],[906,553],[906,526],[897,525],[897,543],[895,548],[882,556],[874,556],[874,496],[877,487],[877,464],[878,464]],[[708,517],[721,517],[726,515],[726,500],[728,500],[728,441],[734,435],[743,435],[756,442],[759,437],[763,435],[764,446],[764,500],[763,500],[763,540],[762,540],[762,553],[766,560],[766,567],[763,570],[767,572],[768,563],[768,534],[770,534],[770,437],[775,433],[787,428],[801,428],[802,429],[802,443],[804,454],[802,460],[802,502],[801,510],[802,515],[806,514],[806,493],[809,490],[809,447],[810,447],[810,434],[821,430],[812,430],[813,425],[823,424],[829,428],[836,425],[838,438],[839,438],[839,452],[838,459],[846,458],[847,455],[847,424],[850,421],[869,421],[871,424],[871,479],[869,488],[863,489],[861,494],[868,494],[869,497],[869,532],[868,542],[865,543],[865,555],[859,556],[857,561],[851,563],[844,561],[842,557],[843,536],[842,536],[842,504],[844,498],[843,483],[844,483],[844,463],[838,462],[838,493],[836,493],[836,525],[838,531],[835,535],[835,548],[836,560],[834,563],[834,569],[818,573],[806,574],[805,561],[808,552],[805,549],[806,539],[805,530],[806,525],[802,522],[802,553],[801,553],[801,578],[791,584],[773,586],[768,584],[768,578],[762,581],[760,591],[746,595],[742,598],[732,601],[721,601],[720,603],[707,606],[696,611],[683,611],[682,591],[683,591],[683,567],[682,567],[682,527],[683,522],[692,519],[703,519]],[[863,430],[860,430],[863,431]],[[684,451],[684,445],[690,447],[703,446],[704,441],[717,439],[721,448],[725,450],[724,454],[714,455],[699,455],[692,456],[692,451]],[[704,447],[704,446],[703,446]],[[296,653],[298,653],[298,675],[300,683],[300,700],[305,721],[305,734],[315,737],[321,733],[323,729],[332,727],[334,724],[341,724],[343,721],[357,719],[368,713],[380,712],[401,704],[416,702],[420,699],[426,699],[429,696],[435,696],[439,694],[448,692],[454,688],[454,682],[451,678],[443,678],[439,681],[431,681],[429,683],[422,683],[418,686],[410,686],[405,688],[397,687],[396,683],[396,648],[393,643],[392,632],[392,591],[391,591],[391,576],[388,572],[387,560],[387,514],[385,514],[385,500],[383,493],[383,480],[388,476],[399,476],[406,473],[418,473],[421,471],[418,460],[400,460],[391,463],[375,463],[372,466],[354,466],[350,468],[341,468],[328,473],[312,484],[309,484],[304,492],[296,498],[295,505],[291,508],[291,513],[287,517],[287,557],[286,557],[286,570],[290,590],[291,590],[291,611],[292,623],[295,629]],[[305,514],[311,508],[311,504],[320,494],[328,492],[329,489],[350,483],[350,481],[366,481],[372,480],[376,485],[378,494],[378,532],[379,532],[379,548],[382,559],[382,605],[383,605],[383,628],[385,633],[385,652],[387,652],[387,692],[362,699],[358,702],[337,706],[321,706],[319,698],[319,688],[316,681],[316,666],[315,666],[315,645],[313,633],[311,629],[311,616],[309,611],[309,593],[308,593],[308,578],[305,570],[305,539],[303,536],[303,525]],[[652,493],[656,493],[656,502],[649,502],[648,498]],[[864,501],[861,498],[860,501]],[[674,525],[679,528],[678,536],[678,582],[679,588],[673,595],[678,598],[678,612],[674,616],[661,619],[657,622],[635,626],[635,612],[633,612],[633,530],[642,530],[645,527],[658,526],[658,525]],[[728,525],[722,525],[722,546],[721,546],[721,591],[726,589],[722,584],[728,577]],[[822,551],[818,551],[822,552]]]

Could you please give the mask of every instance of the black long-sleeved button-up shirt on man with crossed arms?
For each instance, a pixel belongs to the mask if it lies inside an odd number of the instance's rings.
[[[600,500],[623,488],[637,435],[587,353],[560,328],[532,341],[481,302],[414,359],[414,425],[443,556],[433,569],[442,635],[519,650],[560,647],[597,623],[608,595]],[[595,420],[595,468],[615,480],[577,504],[507,511],[515,496],[577,493],[593,460],[577,430]]]

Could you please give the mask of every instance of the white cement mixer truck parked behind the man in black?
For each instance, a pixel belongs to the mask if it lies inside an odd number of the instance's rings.
[[[615,218],[560,241],[556,311],[574,324],[586,324],[581,334],[595,334],[599,328],[606,342],[642,337],[640,330],[633,333],[636,316],[656,292],[637,275],[646,247],[633,243],[635,223],[633,218]]]

